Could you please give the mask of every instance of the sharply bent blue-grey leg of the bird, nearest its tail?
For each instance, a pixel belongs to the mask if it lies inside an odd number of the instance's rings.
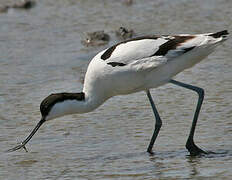
[[[205,151],[203,151],[202,149],[200,149],[199,147],[197,147],[193,141],[193,136],[194,136],[194,132],[195,132],[195,128],[196,128],[196,124],[197,124],[197,119],[201,110],[201,105],[202,102],[204,100],[204,89],[196,87],[196,86],[192,86],[190,84],[185,84],[179,81],[175,81],[175,80],[170,80],[170,83],[175,84],[177,86],[181,86],[190,90],[193,90],[195,92],[198,93],[199,98],[198,98],[198,103],[197,103],[197,107],[196,107],[196,111],[193,117],[193,122],[192,122],[192,127],[189,133],[189,137],[188,140],[186,142],[186,148],[188,149],[188,151],[190,152],[190,155],[199,155],[199,154],[206,154]]]

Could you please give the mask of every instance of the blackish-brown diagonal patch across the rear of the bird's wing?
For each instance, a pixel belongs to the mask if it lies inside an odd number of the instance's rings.
[[[193,39],[195,36],[174,36],[174,39],[170,39],[166,43],[162,44],[158,51],[155,52],[155,54],[151,56],[165,56],[168,51],[176,49],[178,46],[180,46],[182,43]],[[185,52],[192,50],[194,47],[186,48]]]

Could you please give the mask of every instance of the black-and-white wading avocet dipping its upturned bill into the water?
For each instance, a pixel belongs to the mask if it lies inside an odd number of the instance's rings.
[[[173,80],[172,78],[207,57],[215,47],[227,39],[228,31],[206,34],[180,34],[144,36],[118,43],[98,53],[90,62],[84,80],[83,92],[57,93],[46,97],[41,105],[42,118],[31,134],[18,146],[25,145],[46,121],[68,114],[93,111],[107,99],[116,96],[145,91],[155,115],[153,136],[147,148],[152,147],[158,136],[162,120],[152,100],[150,89],[166,83],[193,90],[198,93],[198,103],[191,131],[186,143],[190,155],[205,154],[193,141],[194,131],[204,99],[202,88]]]

